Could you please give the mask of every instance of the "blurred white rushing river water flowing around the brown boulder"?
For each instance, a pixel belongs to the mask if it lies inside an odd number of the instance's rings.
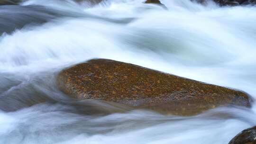
[[[161,1],[168,10],[143,0],[0,6],[0,144],[227,144],[255,126],[255,106],[165,116],[57,89],[63,68],[109,58],[255,98],[256,7]]]

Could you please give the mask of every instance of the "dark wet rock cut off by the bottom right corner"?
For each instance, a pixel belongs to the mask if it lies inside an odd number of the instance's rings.
[[[229,144],[256,144],[256,126],[243,130]]]

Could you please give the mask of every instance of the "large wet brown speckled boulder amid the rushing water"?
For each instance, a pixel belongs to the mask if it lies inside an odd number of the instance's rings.
[[[101,99],[174,115],[227,105],[250,107],[244,92],[108,59],[65,69],[57,84],[75,99]]]

